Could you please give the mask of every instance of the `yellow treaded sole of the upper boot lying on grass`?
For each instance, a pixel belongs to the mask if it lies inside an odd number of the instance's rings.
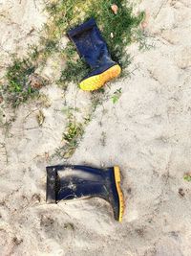
[[[105,82],[116,79],[121,73],[119,65],[115,65],[107,69],[101,74],[90,77],[79,83],[79,87],[84,91],[94,91],[102,87]]]

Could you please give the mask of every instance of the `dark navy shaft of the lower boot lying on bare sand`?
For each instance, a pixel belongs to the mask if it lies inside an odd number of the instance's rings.
[[[112,168],[101,170],[77,165],[47,167],[47,200],[55,202],[85,197],[107,199],[113,179],[112,171]],[[52,190],[54,194],[50,194]]]

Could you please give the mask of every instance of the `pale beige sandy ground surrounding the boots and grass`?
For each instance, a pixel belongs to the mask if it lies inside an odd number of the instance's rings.
[[[0,1],[1,74],[11,53],[22,55],[38,40],[46,20],[42,9],[39,1]],[[154,47],[127,49],[134,72],[106,88],[111,93],[121,87],[119,101],[114,105],[109,98],[96,108],[68,160],[120,166],[122,223],[101,199],[46,204],[45,167],[63,143],[63,108],[77,106],[78,120],[91,108],[91,95],[76,85],[64,95],[50,84],[42,89],[49,107],[30,102],[13,112],[1,105],[0,255],[191,255],[191,187],[183,180],[191,170],[191,3],[143,0],[138,9],[150,15],[146,30]],[[39,110],[45,115],[42,127],[36,122]]]

